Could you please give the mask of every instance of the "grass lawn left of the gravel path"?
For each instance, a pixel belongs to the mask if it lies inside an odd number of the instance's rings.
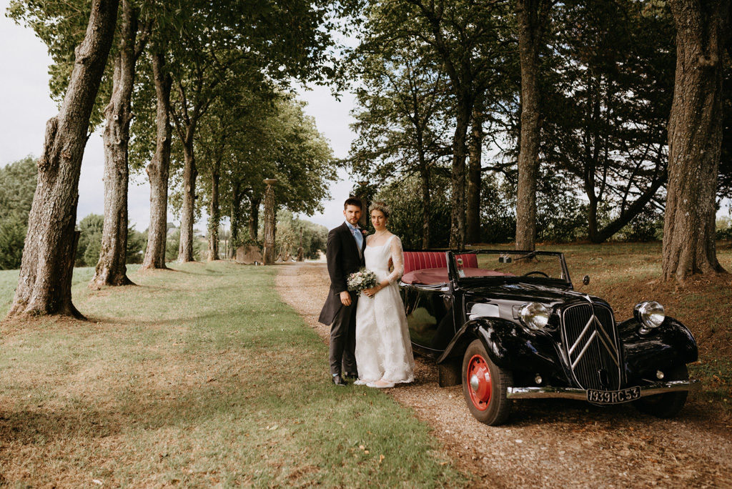
[[[90,321],[3,325],[11,487],[470,483],[414,412],[330,384],[327,347],[277,296],[275,268],[176,268],[102,291],[76,269],[74,302]],[[0,304],[12,300],[4,273]]]

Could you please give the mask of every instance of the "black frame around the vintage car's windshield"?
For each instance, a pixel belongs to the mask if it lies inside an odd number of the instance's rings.
[[[556,256],[559,258],[559,264],[561,265],[561,272],[566,277],[565,279],[561,278],[548,278],[548,277],[542,277],[537,275],[532,275],[531,277],[526,277],[525,275],[515,275],[515,276],[507,276],[507,275],[497,275],[497,276],[490,276],[490,275],[481,275],[477,277],[460,277],[460,274],[458,274],[458,264],[457,260],[455,258],[456,255],[490,255],[495,254],[496,258],[497,255],[532,255],[532,256]],[[529,283],[540,283],[544,285],[554,285],[554,286],[563,286],[563,287],[569,287],[574,288],[572,285],[571,277],[569,277],[569,269],[567,269],[567,262],[564,260],[564,253],[556,252],[556,251],[522,251],[522,250],[448,250],[447,252],[447,274],[450,280],[450,283],[453,285],[474,285],[477,283],[521,283],[521,282],[529,282]]]

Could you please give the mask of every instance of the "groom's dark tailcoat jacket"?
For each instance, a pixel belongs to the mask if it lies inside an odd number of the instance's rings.
[[[358,272],[364,266],[363,250],[366,247],[366,236],[359,255],[359,248],[356,239],[351,234],[346,223],[333,228],[328,233],[328,244],[326,245],[326,259],[328,260],[328,275],[330,275],[330,290],[323,310],[321,310],[320,321],[330,326],[335,315],[343,304],[340,302],[340,293],[348,290],[346,280],[348,275]],[[353,299],[356,299],[354,297]]]

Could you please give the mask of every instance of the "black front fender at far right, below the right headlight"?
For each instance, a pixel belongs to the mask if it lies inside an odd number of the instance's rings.
[[[618,324],[625,375],[629,382],[652,376],[657,370],[696,362],[698,348],[692,332],[674,318],[666,316],[663,323],[641,334],[641,324],[630,318]]]

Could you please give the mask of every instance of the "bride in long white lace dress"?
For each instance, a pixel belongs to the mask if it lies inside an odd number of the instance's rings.
[[[375,202],[369,208],[376,232],[367,236],[366,268],[376,275],[376,286],[363,291],[356,305],[356,384],[381,389],[414,381],[404,305],[397,280],[404,273],[404,255],[398,236],[386,229],[389,207]],[[394,271],[389,273],[389,258]]]

